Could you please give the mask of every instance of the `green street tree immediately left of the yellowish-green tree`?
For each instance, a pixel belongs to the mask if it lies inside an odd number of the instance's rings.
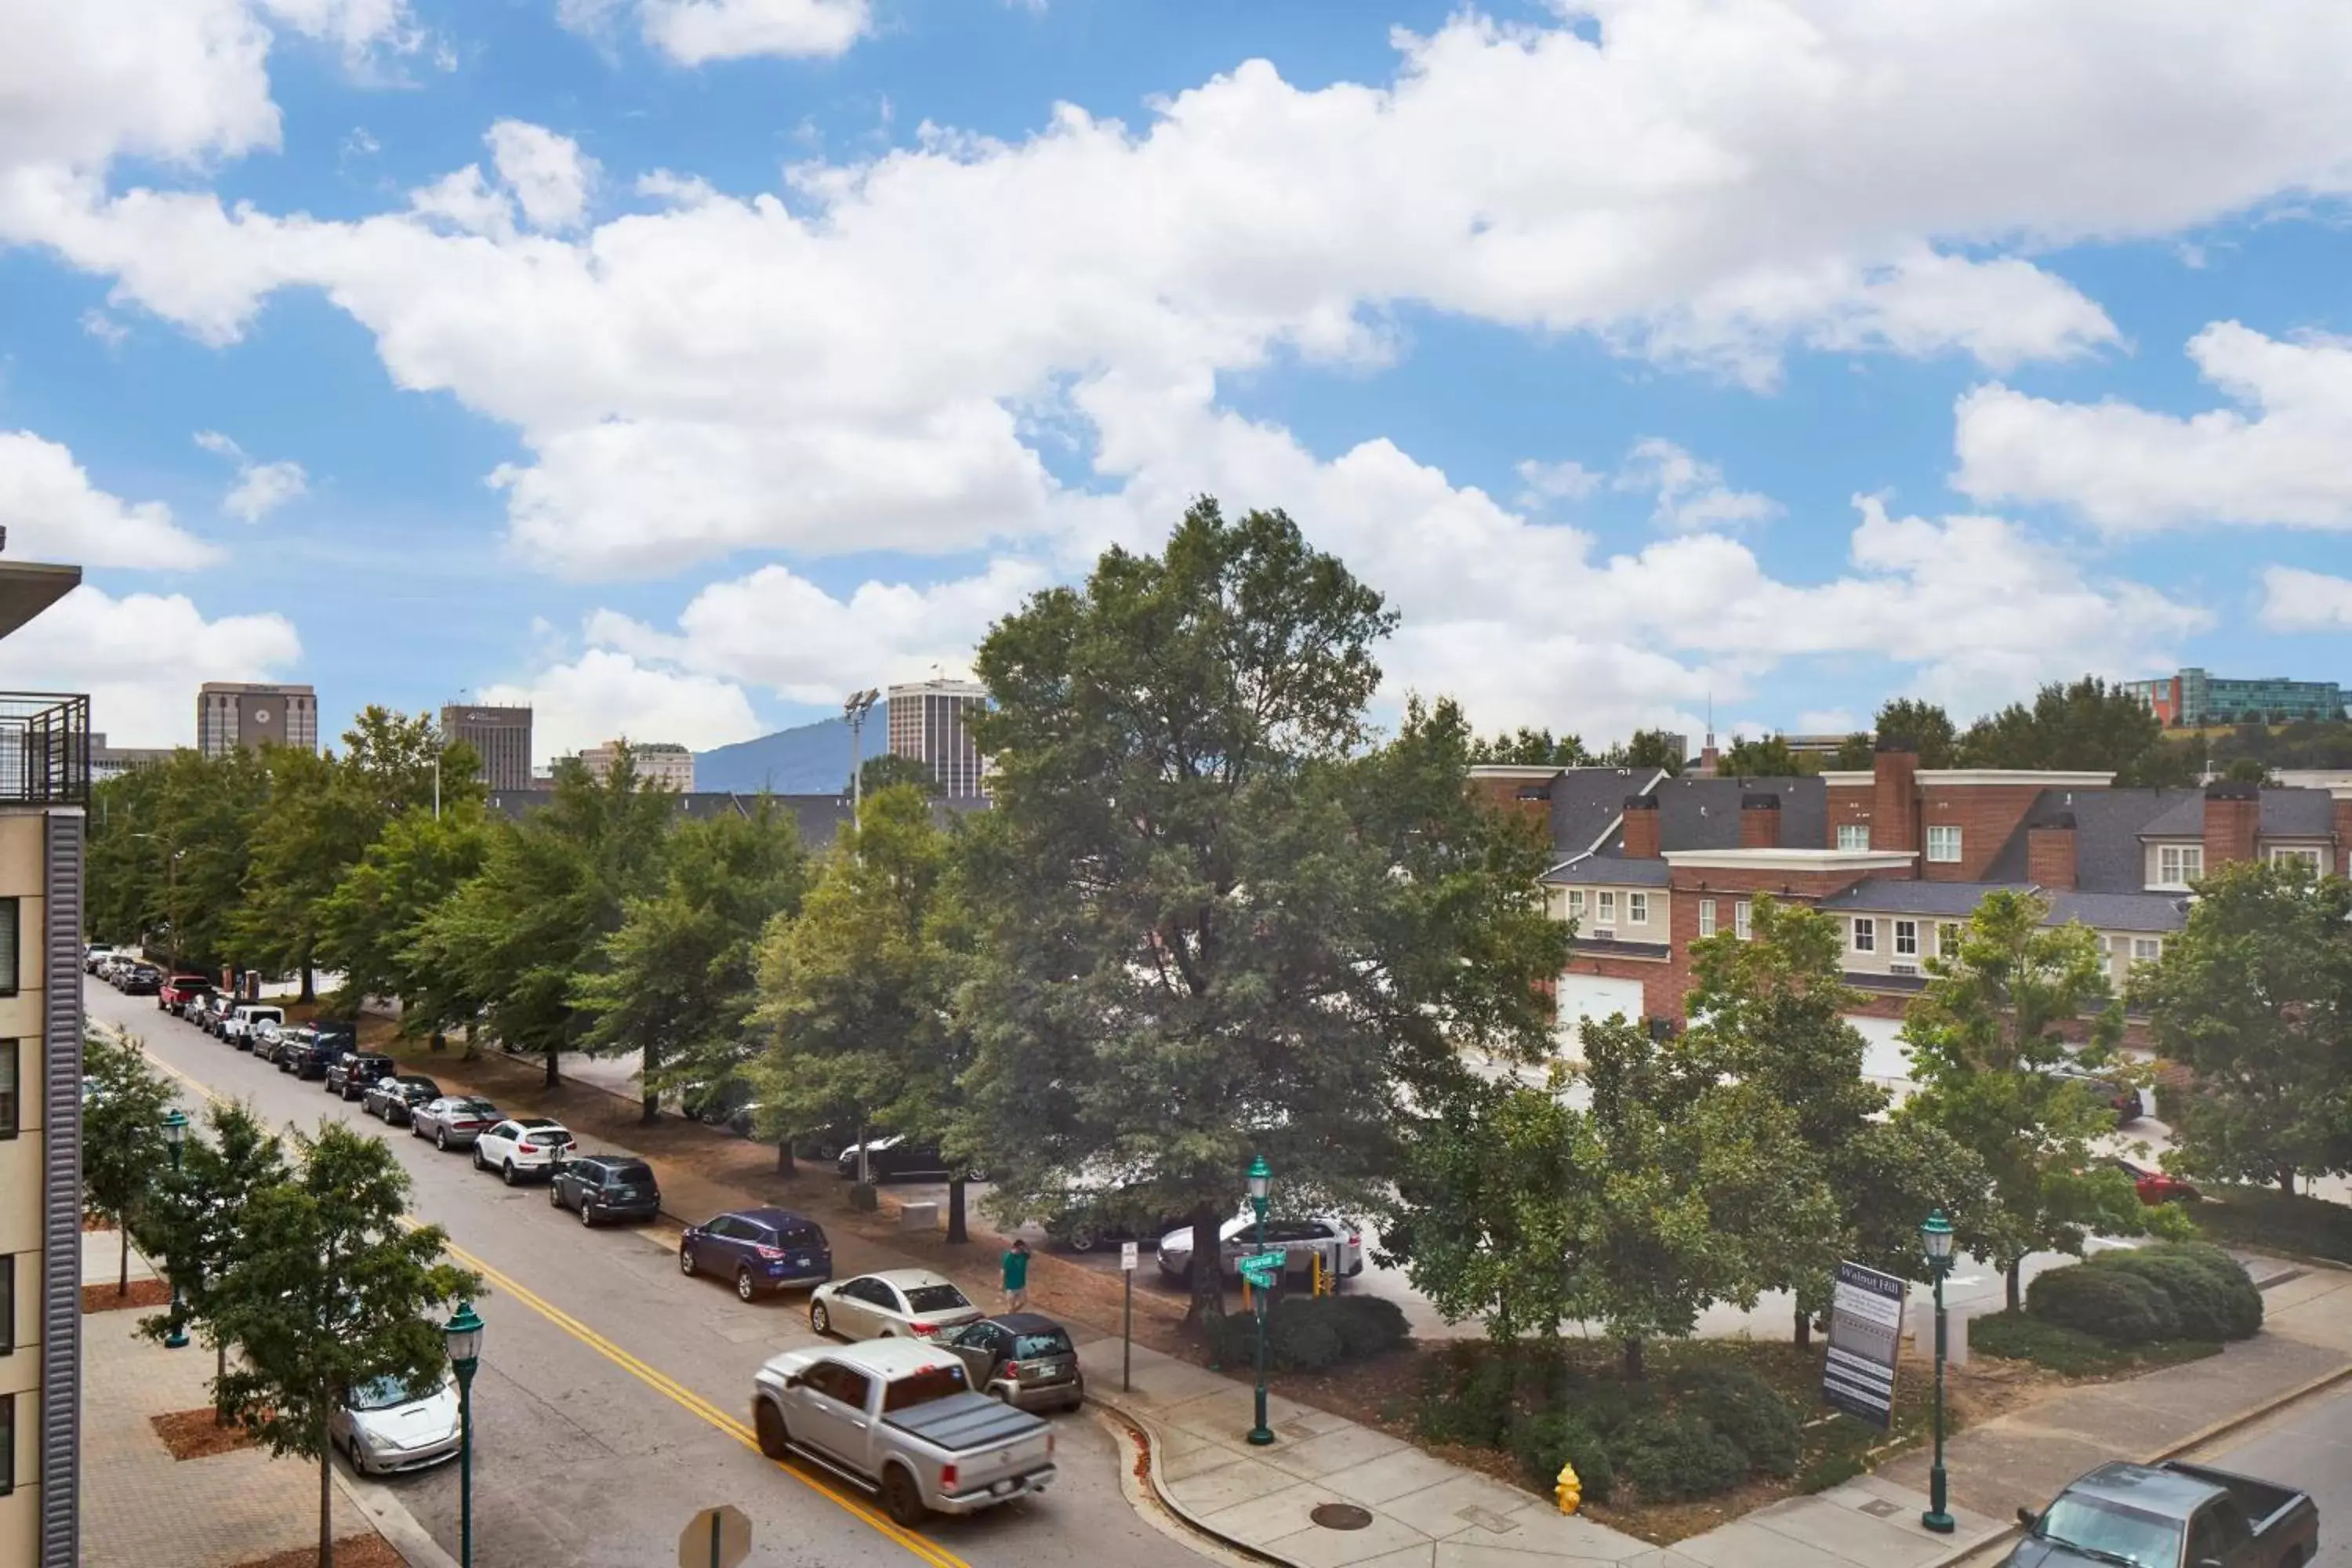
[[[600,966],[572,987],[588,1018],[581,1048],[642,1053],[647,1121],[666,1086],[708,1084],[741,1058],[760,933],[800,907],[809,858],[793,816],[760,799],[748,816],[680,823],[661,877],[659,891],[623,900]]]

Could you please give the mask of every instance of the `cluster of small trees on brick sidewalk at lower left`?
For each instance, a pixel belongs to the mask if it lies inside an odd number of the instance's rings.
[[[85,1053],[85,1206],[122,1227],[176,1286],[141,1321],[162,1340],[195,1331],[214,1349],[214,1420],[270,1453],[318,1462],[318,1561],[334,1561],[329,1418],[350,1389],[428,1389],[449,1366],[442,1314],[480,1279],[442,1258],[437,1225],[409,1225],[409,1178],[381,1138],[320,1121],[273,1133],[219,1103],[174,1168],[162,1117],[172,1091],[127,1039],[92,1032]]]

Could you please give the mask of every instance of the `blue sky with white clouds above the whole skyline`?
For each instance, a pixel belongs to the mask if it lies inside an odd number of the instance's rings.
[[[1209,491],[1489,726],[2352,679],[2347,68],[2328,0],[31,0],[0,524],[87,585],[0,665],[708,748]]]

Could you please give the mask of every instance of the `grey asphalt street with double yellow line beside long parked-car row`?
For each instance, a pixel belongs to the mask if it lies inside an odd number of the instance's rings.
[[[477,1568],[621,1568],[677,1561],[677,1533],[703,1507],[753,1521],[753,1563],[828,1568],[1197,1568],[1200,1554],[1120,1490],[1120,1443],[1089,1413],[1054,1418],[1061,1474],[1035,1500],[920,1535],[854,1488],[779,1467],[750,1443],[753,1371],[816,1342],[802,1293],[743,1305],[722,1281],[677,1274],[675,1229],[581,1229],[539,1185],[506,1187],[466,1154],[437,1154],[358,1105],[155,1009],[85,983],[89,1016],[139,1034],[151,1058],[202,1088],[249,1100],[275,1124],[322,1117],[386,1135],[414,1178],[412,1213],[449,1232],[459,1262],[489,1284],[475,1408]],[[198,1095],[191,1095],[195,1100]],[[191,1103],[191,1114],[200,1105]],[[386,1486],[456,1552],[456,1467]]]

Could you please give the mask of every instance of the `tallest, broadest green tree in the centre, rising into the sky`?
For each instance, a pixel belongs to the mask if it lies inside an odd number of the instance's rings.
[[[967,1126],[1009,1204],[1143,1171],[1209,1260],[1251,1157],[1294,1201],[1367,1201],[1461,1046],[1550,1046],[1550,846],[1472,804],[1451,705],[1364,752],[1392,625],[1282,512],[1200,501],[1162,555],[1110,550],[988,632]]]

